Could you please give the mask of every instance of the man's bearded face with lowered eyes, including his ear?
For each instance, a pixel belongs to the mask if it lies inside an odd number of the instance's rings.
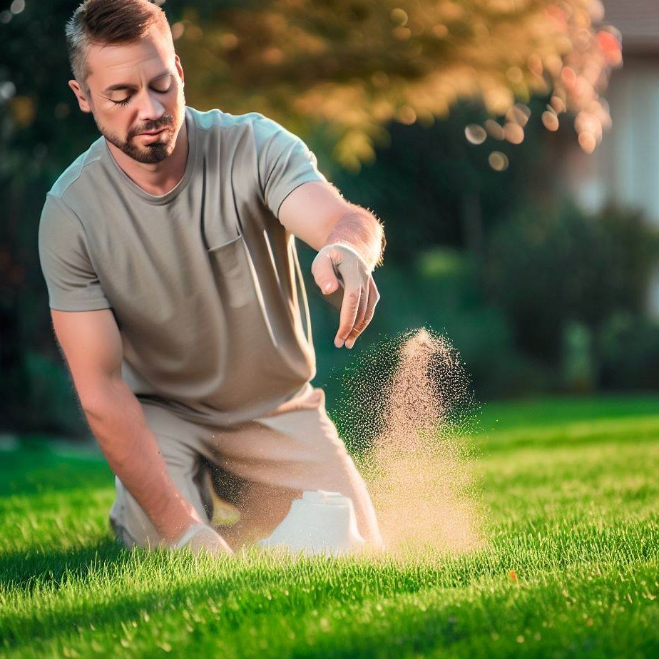
[[[140,163],[167,158],[185,121],[183,68],[171,41],[152,27],[129,44],[93,44],[87,63],[87,90],[69,86],[101,135]]]

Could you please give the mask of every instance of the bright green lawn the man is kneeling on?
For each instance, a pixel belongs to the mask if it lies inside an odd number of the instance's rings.
[[[129,552],[103,461],[0,454],[0,655],[658,656],[659,397],[491,403],[470,441],[487,545],[409,561]]]

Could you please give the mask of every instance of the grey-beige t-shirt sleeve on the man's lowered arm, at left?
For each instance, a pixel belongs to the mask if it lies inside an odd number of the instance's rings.
[[[51,309],[93,311],[111,307],[91,265],[80,220],[53,195],[46,195],[41,210],[39,261]]]

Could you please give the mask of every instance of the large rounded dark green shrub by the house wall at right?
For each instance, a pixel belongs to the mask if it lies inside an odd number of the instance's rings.
[[[489,237],[482,280],[516,344],[558,363],[568,323],[597,334],[617,314],[645,315],[658,254],[658,232],[640,213],[609,206],[588,215],[563,201],[520,208],[501,222]]]

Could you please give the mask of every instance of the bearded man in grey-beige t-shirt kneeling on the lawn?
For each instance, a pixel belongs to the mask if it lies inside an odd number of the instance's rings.
[[[324,489],[349,496],[381,546],[310,384],[293,238],[320,250],[323,294],[344,286],[334,343],[352,348],[379,299],[381,225],[275,121],[186,106],[155,4],[86,0],[66,34],[69,86],[101,138],[46,196],[39,255],[58,343],[116,474],[118,539],[230,553],[267,536],[303,490]],[[218,521],[222,501],[235,523]]]

